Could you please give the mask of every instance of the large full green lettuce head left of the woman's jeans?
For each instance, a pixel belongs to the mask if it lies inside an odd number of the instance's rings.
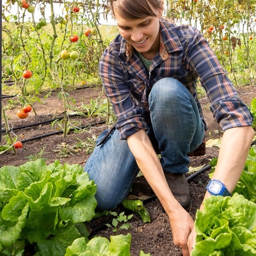
[[[65,255],[95,215],[96,185],[78,164],[43,159],[0,168],[0,252],[17,255],[35,243],[38,255]],[[87,238],[86,238],[87,239]],[[88,239],[87,239],[88,240]]]

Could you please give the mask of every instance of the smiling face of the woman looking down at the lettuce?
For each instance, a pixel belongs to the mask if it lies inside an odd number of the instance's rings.
[[[120,35],[138,52],[151,53],[159,50],[159,18],[144,17],[141,19],[124,19],[115,10],[116,24]]]

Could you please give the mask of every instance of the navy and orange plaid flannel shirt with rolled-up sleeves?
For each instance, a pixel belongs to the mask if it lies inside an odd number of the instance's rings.
[[[202,33],[191,26],[160,19],[159,52],[149,72],[136,50],[118,35],[102,54],[99,72],[118,119],[115,127],[120,132],[120,140],[140,129],[148,130],[148,94],[154,83],[164,77],[173,77],[188,88],[198,104],[202,122],[204,116],[196,92],[199,81],[211,102],[213,117],[223,131],[252,125],[248,107],[237,96],[216,54]]]

